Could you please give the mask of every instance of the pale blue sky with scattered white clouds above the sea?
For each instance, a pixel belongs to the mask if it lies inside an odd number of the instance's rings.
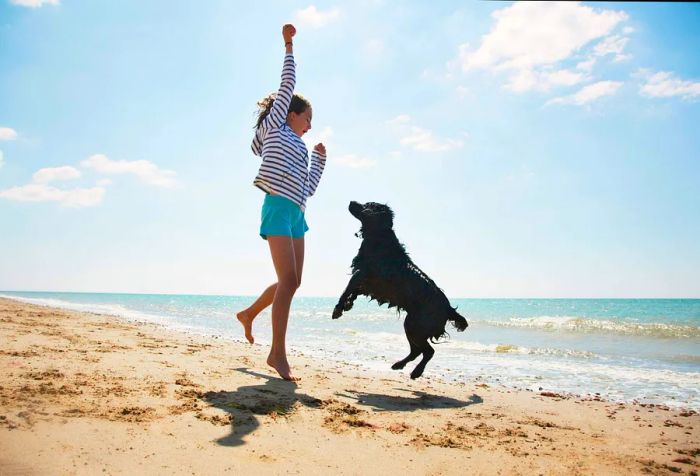
[[[255,295],[256,101],[297,27],[299,296],[351,200],[452,298],[700,297],[700,5],[0,0],[0,290]]]

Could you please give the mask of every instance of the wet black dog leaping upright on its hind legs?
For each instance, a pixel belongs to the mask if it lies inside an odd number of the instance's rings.
[[[392,230],[391,208],[379,203],[350,202],[348,209],[362,223],[362,245],[352,260],[352,277],[333,310],[333,319],[352,309],[360,294],[376,299],[379,305],[388,303],[389,307],[406,311],[403,327],[411,353],[391,368],[402,369],[423,354],[423,360],[411,372],[411,378],[418,378],[435,353],[428,340],[435,343],[445,336],[448,320],[458,331],[467,328],[467,321],[450,306],[433,280],[413,264]]]

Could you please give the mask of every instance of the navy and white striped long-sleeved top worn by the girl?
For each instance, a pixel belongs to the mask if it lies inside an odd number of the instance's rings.
[[[290,199],[304,210],[306,199],[314,194],[326,157],[313,151],[311,168],[309,153],[301,137],[287,125],[287,112],[296,83],[294,56],[284,57],[282,83],[270,113],[255,131],[251,148],[262,157],[262,164],[253,184],[266,193]]]

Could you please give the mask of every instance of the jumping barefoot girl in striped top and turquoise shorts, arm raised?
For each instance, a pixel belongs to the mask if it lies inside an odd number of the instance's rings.
[[[287,361],[285,339],[292,297],[301,284],[304,267],[304,233],[309,229],[304,219],[306,199],[314,194],[326,163],[326,148],[316,144],[309,154],[301,137],[311,129],[311,104],[294,93],[295,65],[293,25],[282,27],[286,48],[282,84],[276,95],[258,103],[260,111],[252,149],[262,157],[254,185],[265,192],[260,236],[267,240],[277,282],[237,314],[246,339],[254,342],[253,320],[272,304],[272,347],[267,364],[285,380],[296,381]]]

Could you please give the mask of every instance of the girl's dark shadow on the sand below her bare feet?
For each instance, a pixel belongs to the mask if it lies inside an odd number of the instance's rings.
[[[240,446],[245,444],[243,438],[260,426],[258,416],[284,416],[294,411],[297,404],[318,408],[321,400],[303,393],[297,393],[294,382],[279,377],[253,372],[247,368],[234,369],[265,382],[260,385],[244,385],[234,391],[206,392],[201,399],[209,405],[231,414],[231,434],[219,438],[217,443],[223,446]]]

